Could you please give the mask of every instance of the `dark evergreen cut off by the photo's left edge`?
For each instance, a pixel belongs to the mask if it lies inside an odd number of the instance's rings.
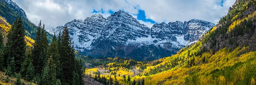
[[[4,70],[4,44],[3,44],[3,35],[0,31],[0,71]]]

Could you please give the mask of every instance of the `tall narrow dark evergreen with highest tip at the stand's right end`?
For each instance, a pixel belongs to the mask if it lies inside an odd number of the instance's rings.
[[[73,71],[75,69],[75,54],[71,47],[68,28],[64,27],[64,31],[61,36],[61,66],[63,69],[64,82],[72,84]]]

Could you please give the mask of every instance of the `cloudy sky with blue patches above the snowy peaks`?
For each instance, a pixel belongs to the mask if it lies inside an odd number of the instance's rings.
[[[218,23],[235,0],[13,0],[32,23],[40,20],[46,28],[63,26],[74,19],[84,20],[100,13],[108,17],[125,11],[148,27],[154,23],[191,19]],[[29,5],[28,5],[29,4]]]

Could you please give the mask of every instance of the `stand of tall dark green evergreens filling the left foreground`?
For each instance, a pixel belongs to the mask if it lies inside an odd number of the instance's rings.
[[[0,34],[0,71],[16,76],[17,85],[20,77],[39,85],[83,85],[82,61],[75,58],[68,28],[49,44],[44,27],[40,21],[32,47],[26,46],[21,18],[13,23],[6,44]]]

